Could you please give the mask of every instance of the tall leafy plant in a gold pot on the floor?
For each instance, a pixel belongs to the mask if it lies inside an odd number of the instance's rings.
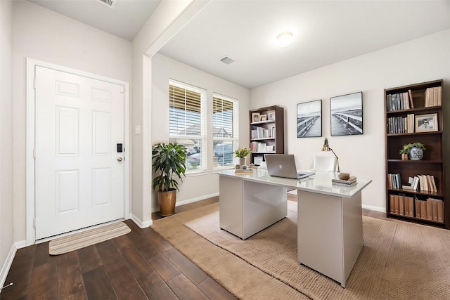
[[[157,174],[153,178],[153,189],[158,188],[160,215],[170,216],[175,213],[176,190],[181,175],[186,172],[186,148],[179,143],[158,143],[152,148],[152,169]]]

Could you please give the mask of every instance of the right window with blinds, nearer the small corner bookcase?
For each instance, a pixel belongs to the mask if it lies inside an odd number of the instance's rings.
[[[239,134],[238,101],[214,94],[212,97],[212,124],[214,167],[233,165]]]

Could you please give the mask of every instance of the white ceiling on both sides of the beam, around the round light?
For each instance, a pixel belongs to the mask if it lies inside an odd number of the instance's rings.
[[[29,1],[128,40],[160,2]],[[160,53],[252,89],[449,28],[450,0],[212,0]],[[278,48],[286,30],[293,43]]]

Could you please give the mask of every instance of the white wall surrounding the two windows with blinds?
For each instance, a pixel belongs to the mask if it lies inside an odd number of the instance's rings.
[[[229,81],[195,69],[161,54],[152,57],[152,143],[169,142],[169,79],[197,86],[207,91],[207,132],[212,132],[212,94],[219,93],[239,101],[239,145],[248,147],[248,110],[250,91]],[[207,141],[212,150],[212,137]],[[219,193],[219,176],[212,174],[212,155],[207,158],[207,172],[186,175],[179,181],[176,202],[191,202]],[[158,211],[158,198],[153,194],[153,211]]]

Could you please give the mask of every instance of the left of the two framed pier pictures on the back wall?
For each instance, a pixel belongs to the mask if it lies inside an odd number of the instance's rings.
[[[297,104],[297,138],[322,136],[322,100]]]

